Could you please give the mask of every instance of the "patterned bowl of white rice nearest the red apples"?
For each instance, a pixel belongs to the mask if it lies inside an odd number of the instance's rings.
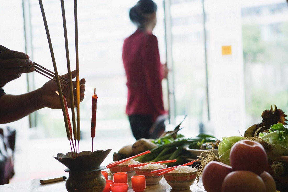
[[[176,190],[189,189],[197,177],[198,170],[189,166],[180,166],[164,174],[167,183]]]

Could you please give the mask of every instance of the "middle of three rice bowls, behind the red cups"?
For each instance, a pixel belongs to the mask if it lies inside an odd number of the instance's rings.
[[[151,171],[166,168],[165,164],[147,164],[145,166],[135,167],[137,175],[145,175],[146,185],[154,185],[160,183],[163,175],[158,176],[158,173],[151,173]]]

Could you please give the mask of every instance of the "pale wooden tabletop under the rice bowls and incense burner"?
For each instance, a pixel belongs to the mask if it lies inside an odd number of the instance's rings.
[[[68,175],[65,175],[68,177]],[[42,179],[42,178],[41,178]],[[59,181],[59,182],[54,182],[54,183],[47,183],[47,184],[40,184],[39,183],[40,179],[35,179],[31,181],[26,181],[26,182],[19,182],[19,183],[11,183],[11,184],[6,184],[6,185],[0,185],[0,191],[2,192],[34,192],[34,191],[39,191],[39,192],[65,192],[67,191],[65,188],[65,180],[64,181]],[[128,192],[133,192],[132,187],[131,187],[131,180],[128,181],[129,183],[129,189]],[[198,183],[198,186],[196,183],[194,183],[190,189],[187,190],[182,190],[181,192],[202,192],[205,191],[202,181],[200,180]],[[201,188],[200,188],[201,187]],[[171,189],[170,185],[166,182],[166,180],[163,178],[160,181],[160,184],[156,185],[146,185],[146,192],[176,192],[179,190],[173,190]],[[87,191],[88,192],[88,191]]]

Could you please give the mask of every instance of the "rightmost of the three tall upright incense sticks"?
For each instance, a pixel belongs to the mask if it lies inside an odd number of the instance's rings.
[[[76,111],[77,111],[77,140],[78,153],[80,153],[80,81],[79,81],[79,57],[78,57],[78,21],[77,21],[77,0],[74,0],[74,24],[75,24],[75,54],[76,54]]]

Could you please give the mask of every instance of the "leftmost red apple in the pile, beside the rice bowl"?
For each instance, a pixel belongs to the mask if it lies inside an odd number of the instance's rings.
[[[216,162],[209,162],[202,173],[202,182],[207,192],[221,192],[221,185],[228,173],[232,172],[232,167]]]

